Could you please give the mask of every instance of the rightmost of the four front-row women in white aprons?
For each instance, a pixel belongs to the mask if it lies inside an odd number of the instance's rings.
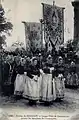
[[[65,72],[65,66],[63,64],[63,58],[60,56],[58,58],[58,63],[55,65],[54,78],[53,78],[55,81],[55,96],[57,101],[60,101],[64,98],[64,92],[65,92],[64,72]]]

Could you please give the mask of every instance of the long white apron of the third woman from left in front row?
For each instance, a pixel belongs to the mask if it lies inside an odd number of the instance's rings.
[[[41,100],[46,102],[53,100],[52,74],[43,74]]]

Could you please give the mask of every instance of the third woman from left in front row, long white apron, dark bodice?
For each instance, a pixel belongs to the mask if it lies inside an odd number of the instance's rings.
[[[41,101],[50,105],[53,100],[52,71],[54,70],[52,56],[49,55],[43,67],[43,79],[41,88]]]

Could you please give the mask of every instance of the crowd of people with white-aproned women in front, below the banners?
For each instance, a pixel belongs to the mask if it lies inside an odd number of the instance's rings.
[[[52,54],[46,57],[42,53],[31,57],[6,55],[2,62],[3,95],[13,96],[15,100],[25,98],[29,105],[36,105],[37,101],[49,105],[63,100],[65,87],[77,88],[79,77],[75,59],[67,56],[67,64],[62,50],[58,51],[55,62]]]

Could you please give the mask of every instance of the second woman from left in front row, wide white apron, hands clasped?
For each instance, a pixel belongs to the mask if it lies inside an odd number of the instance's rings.
[[[37,58],[33,57],[27,70],[26,84],[23,97],[29,100],[29,105],[35,105],[39,100],[38,79],[40,70],[37,66]]]

